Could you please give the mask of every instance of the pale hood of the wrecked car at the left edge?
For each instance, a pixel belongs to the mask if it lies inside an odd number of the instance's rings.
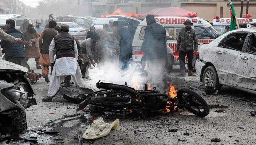
[[[0,71],[1,72],[3,72],[3,71],[28,72],[28,69],[26,67],[22,67],[21,65],[17,65],[15,63],[0,59]]]

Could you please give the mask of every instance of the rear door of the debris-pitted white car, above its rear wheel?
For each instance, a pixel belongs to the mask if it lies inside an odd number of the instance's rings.
[[[215,67],[220,83],[237,86],[237,67],[241,57],[244,41],[248,33],[231,33],[214,49]]]

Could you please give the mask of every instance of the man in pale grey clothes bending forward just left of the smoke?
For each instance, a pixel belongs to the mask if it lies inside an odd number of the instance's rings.
[[[86,70],[84,71],[83,78],[86,80],[92,80],[89,76],[89,67],[91,64],[95,67],[95,62],[93,60],[93,55],[91,50],[96,46],[97,41],[99,40],[99,35],[97,33],[93,33],[91,38],[85,39],[80,43],[82,49],[82,58],[84,63],[86,64]]]

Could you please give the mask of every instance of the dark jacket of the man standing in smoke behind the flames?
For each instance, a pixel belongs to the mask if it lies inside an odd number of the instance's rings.
[[[154,22],[145,28],[141,50],[144,60],[167,58],[166,30],[162,25]]]

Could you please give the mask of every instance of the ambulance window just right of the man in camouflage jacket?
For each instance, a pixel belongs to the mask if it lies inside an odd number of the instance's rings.
[[[218,37],[218,34],[210,27],[195,26],[194,28],[198,39],[216,39]]]

